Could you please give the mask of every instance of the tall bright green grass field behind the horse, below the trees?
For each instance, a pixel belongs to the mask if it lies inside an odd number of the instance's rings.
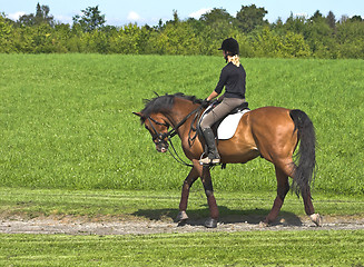
[[[250,108],[308,113],[322,192],[364,192],[362,60],[243,59]],[[219,57],[0,55],[0,185],[65,189],[180,188],[188,169],[158,154],[131,112],[177,91],[205,98]],[[179,150],[181,152],[181,150]],[[160,168],[164,166],[164,168]],[[217,190],[272,191],[264,159],[216,168]]]

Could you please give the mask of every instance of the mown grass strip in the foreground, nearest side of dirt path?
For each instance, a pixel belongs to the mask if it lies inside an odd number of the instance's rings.
[[[1,235],[2,266],[355,266],[363,230]]]

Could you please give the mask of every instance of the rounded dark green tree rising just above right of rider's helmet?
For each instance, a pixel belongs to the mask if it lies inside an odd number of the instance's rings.
[[[255,4],[242,6],[240,11],[236,13],[237,27],[244,32],[250,32],[258,26],[268,24],[268,21],[264,20],[266,13],[268,11]]]

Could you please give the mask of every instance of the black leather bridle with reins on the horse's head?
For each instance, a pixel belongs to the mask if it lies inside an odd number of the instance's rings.
[[[156,144],[156,146],[158,146],[158,145],[161,145],[161,144],[168,144],[169,142],[169,145],[170,145],[170,147],[173,148],[173,150],[174,150],[174,154],[176,155],[174,155],[169,149],[168,149],[168,151],[170,152],[170,155],[173,156],[173,158],[177,161],[177,162],[179,162],[179,164],[181,164],[181,165],[185,165],[185,166],[188,166],[188,167],[194,167],[193,165],[189,165],[189,164],[186,164],[179,156],[178,156],[178,154],[177,154],[177,151],[176,151],[176,149],[175,149],[175,146],[173,145],[173,142],[171,142],[171,138],[174,137],[174,136],[176,136],[178,132],[177,132],[177,130],[178,130],[178,128],[179,127],[181,127],[187,120],[188,120],[188,118],[189,117],[191,117],[194,113],[195,113],[195,117],[194,117],[194,120],[193,120],[193,122],[191,122],[191,125],[190,125],[190,128],[189,128],[189,132],[188,132],[188,144],[189,144],[189,146],[191,146],[193,145],[193,142],[194,142],[194,140],[197,138],[197,129],[196,128],[194,128],[194,123],[196,122],[196,120],[199,118],[199,116],[200,116],[200,113],[201,113],[201,110],[203,110],[203,107],[201,106],[199,106],[198,108],[196,108],[196,109],[194,109],[193,111],[190,111],[181,121],[179,121],[175,127],[173,127],[173,129],[171,130],[169,130],[169,131],[167,131],[167,132],[158,132],[157,131],[157,129],[156,129],[156,127],[154,127],[154,125],[151,123],[151,121],[154,122],[154,123],[156,123],[156,125],[159,125],[159,126],[165,126],[167,129],[168,129],[168,127],[169,127],[169,125],[168,123],[166,123],[166,122],[159,122],[159,121],[157,121],[156,119],[154,119],[154,118],[151,118],[150,116],[147,118],[148,119],[148,121],[149,121],[149,125],[150,125],[150,127],[151,127],[151,129],[153,129],[153,132],[151,132],[151,139],[153,139],[153,141],[154,141],[154,144]],[[190,137],[190,134],[191,134],[191,131],[195,131],[195,135],[193,136],[193,137]],[[167,138],[167,141],[165,140]]]

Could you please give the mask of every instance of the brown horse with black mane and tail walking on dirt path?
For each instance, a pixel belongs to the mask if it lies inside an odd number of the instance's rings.
[[[204,110],[203,100],[195,96],[174,93],[145,100],[145,108],[134,112],[150,132],[157,151],[166,152],[170,138],[181,140],[183,151],[191,161],[191,169],[181,188],[179,212],[176,222],[188,219],[186,212],[189,189],[200,178],[209,207],[205,227],[215,228],[219,217],[214,196],[210,167],[199,164],[204,154],[204,140],[197,132],[197,121]],[[169,130],[171,128],[171,130]],[[299,144],[299,146],[298,146]],[[315,170],[315,130],[308,116],[298,109],[262,107],[246,112],[239,120],[233,138],[218,140],[222,164],[245,164],[257,157],[272,162],[277,179],[277,196],[272,210],[260,221],[269,226],[278,216],[289,188],[303,198],[305,212],[319,226],[322,217],[315,214],[311,196],[311,181]],[[298,147],[296,154],[296,147]],[[288,177],[293,179],[289,185]]]

